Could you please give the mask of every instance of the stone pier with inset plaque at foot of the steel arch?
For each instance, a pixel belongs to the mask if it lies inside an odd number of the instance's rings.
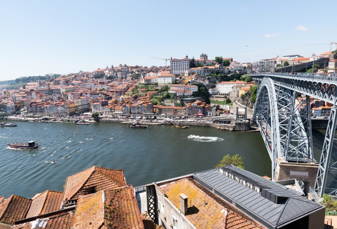
[[[317,163],[296,163],[285,161],[283,157],[276,159],[275,180],[296,179],[305,181],[306,191],[315,185],[319,165]]]

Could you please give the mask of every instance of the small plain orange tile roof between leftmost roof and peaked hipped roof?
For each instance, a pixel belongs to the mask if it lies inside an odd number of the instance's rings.
[[[36,194],[32,198],[32,204],[26,218],[55,212],[60,209],[63,192],[47,190]]]

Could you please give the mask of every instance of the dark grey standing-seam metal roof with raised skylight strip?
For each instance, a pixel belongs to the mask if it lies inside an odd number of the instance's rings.
[[[223,174],[222,170],[254,184],[261,191],[246,187]],[[324,208],[292,189],[233,165],[194,173],[193,179],[267,227],[277,228]],[[264,197],[263,193],[269,197]]]

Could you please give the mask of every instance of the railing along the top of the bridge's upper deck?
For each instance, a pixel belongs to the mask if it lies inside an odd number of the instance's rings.
[[[322,74],[310,74],[310,73],[297,73],[297,74],[288,74],[288,73],[256,73],[251,74],[251,76],[278,76],[284,78],[298,78],[298,79],[309,79],[309,81],[319,80],[319,81],[331,81],[337,82],[337,74],[333,73],[331,76],[322,76]]]

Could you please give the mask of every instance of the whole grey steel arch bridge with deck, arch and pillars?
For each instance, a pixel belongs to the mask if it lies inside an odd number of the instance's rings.
[[[337,195],[337,77],[279,73],[251,77],[258,82],[252,121],[260,128],[271,158],[273,180],[276,158],[314,162],[309,98],[332,104],[314,191],[319,197],[324,193]]]

